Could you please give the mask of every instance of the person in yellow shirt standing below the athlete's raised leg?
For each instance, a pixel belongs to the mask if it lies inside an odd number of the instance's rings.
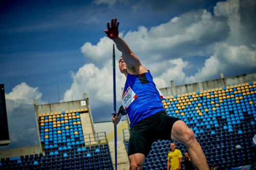
[[[182,153],[180,150],[176,149],[174,142],[170,143],[170,152],[168,152],[167,159],[167,170],[180,170],[182,162]]]

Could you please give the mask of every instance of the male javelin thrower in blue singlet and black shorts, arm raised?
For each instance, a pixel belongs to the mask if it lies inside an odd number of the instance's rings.
[[[119,69],[126,76],[122,106],[131,122],[128,149],[130,169],[142,169],[151,145],[157,139],[175,140],[185,144],[195,166],[199,170],[209,169],[193,130],[181,119],[166,114],[150,71],[118,36],[118,25],[117,18],[112,19],[111,26],[108,22],[108,30],[104,32],[122,52]],[[121,114],[112,117],[114,126],[120,119]]]

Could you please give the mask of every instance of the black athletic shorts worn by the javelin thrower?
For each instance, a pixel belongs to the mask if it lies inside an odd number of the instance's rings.
[[[165,111],[160,111],[133,125],[130,132],[128,156],[141,153],[147,157],[154,141],[172,140],[170,134],[177,120],[181,119],[168,116]]]

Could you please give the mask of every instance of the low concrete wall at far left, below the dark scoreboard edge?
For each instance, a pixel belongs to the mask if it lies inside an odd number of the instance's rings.
[[[40,145],[22,148],[12,148],[0,151],[0,158],[10,158],[16,156],[35,155],[42,153]]]

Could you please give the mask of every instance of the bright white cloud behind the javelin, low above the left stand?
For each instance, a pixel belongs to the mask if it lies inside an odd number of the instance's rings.
[[[73,83],[64,95],[64,101],[79,100],[86,92],[91,106],[113,102],[113,68],[112,60],[107,61],[102,68],[94,64],[86,64],[72,73]],[[125,82],[125,76],[116,67],[116,92],[121,96],[121,87]],[[117,98],[120,101],[120,98]]]

